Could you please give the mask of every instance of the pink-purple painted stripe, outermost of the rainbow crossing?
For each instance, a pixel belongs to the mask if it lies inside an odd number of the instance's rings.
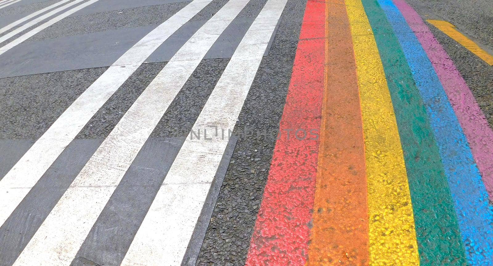
[[[435,68],[467,137],[490,200],[493,200],[493,130],[454,62],[424,24],[420,15],[404,0],[393,1],[418,37]]]

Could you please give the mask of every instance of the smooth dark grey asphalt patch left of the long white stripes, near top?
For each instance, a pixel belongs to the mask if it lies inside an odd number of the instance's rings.
[[[0,55],[0,78],[105,67],[154,27],[109,30],[25,42]]]

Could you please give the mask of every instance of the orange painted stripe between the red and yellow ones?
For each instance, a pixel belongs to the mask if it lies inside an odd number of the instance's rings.
[[[325,94],[307,265],[368,265],[363,126],[344,0],[327,0],[325,16]]]

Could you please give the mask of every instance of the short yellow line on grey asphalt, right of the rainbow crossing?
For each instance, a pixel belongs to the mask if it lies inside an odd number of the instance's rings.
[[[481,47],[479,47],[471,39],[464,36],[464,34],[458,32],[458,30],[456,30],[456,26],[450,24],[449,22],[441,20],[426,21],[438,28],[438,30],[441,30],[445,34],[449,35],[449,37],[456,40],[458,43],[460,43],[460,45],[467,48],[467,50],[471,51],[473,54],[483,59],[488,64],[493,65],[493,56],[488,54],[488,52],[486,52],[485,50],[481,49]]]

